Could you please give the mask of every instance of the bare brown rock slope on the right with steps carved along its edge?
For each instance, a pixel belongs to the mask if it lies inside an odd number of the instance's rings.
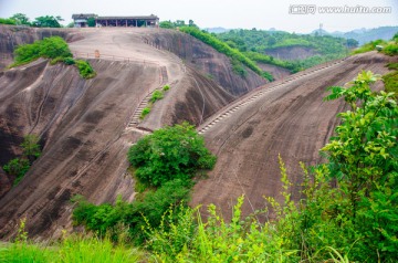
[[[294,81],[268,84],[208,119],[199,130],[218,162],[209,178],[196,185],[192,204],[214,203],[230,218],[235,199],[245,194],[245,214],[264,208],[263,196],[280,198],[279,155],[290,179],[300,183],[298,162],[321,161],[318,150],[333,133],[336,114],[345,107],[342,101],[323,102],[326,87],[344,85],[360,70],[383,74],[388,60],[370,53],[301,73]],[[300,198],[297,190],[292,192],[294,199]]]

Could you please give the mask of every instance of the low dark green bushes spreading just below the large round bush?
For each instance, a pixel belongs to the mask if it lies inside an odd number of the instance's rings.
[[[188,201],[189,187],[187,182],[178,179],[168,181],[156,191],[146,192],[143,201],[127,203],[118,198],[115,206],[95,206],[82,197],[75,197],[73,201],[77,206],[73,210],[73,220],[76,224],[84,224],[87,230],[101,235],[114,233],[113,239],[117,239],[119,234],[118,225],[124,225],[130,239],[142,242],[146,238],[142,232],[146,222],[154,227],[159,225],[163,214],[170,206]]]

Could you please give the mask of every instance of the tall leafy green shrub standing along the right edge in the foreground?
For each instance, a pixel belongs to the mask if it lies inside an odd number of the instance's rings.
[[[339,182],[352,222],[350,238],[358,238],[358,261],[396,260],[398,228],[398,107],[394,93],[373,93],[378,80],[363,72],[347,88],[332,87],[326,99],[344,97],[352,111],[339,114],[336,136],[322,150],[327,152],[332,178]],[[359,106],[358,106],[359,105]]]

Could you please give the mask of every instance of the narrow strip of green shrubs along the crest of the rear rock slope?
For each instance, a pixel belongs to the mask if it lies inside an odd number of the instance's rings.
[[[180,31],[192,35],[193,38],[212,46],[218,52],[226,54],[228,57],[231,59],[232,63],[233,61],[240,62],[243,65],[248,66],[253,72],[255,72],[256,74],[262,75],[263,71],[253,61],[244,56],[239,50],[232,49],[227,43],[214,38],[212,34],[209,34],[206,31],[200,31],[195,27],[184,27],[180,28]]]

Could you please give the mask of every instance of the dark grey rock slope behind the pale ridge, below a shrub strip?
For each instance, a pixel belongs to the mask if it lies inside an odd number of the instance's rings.
[[[168,50],[189,66],[213,78],[220,86],[232,95],[242,95],[266,83],[266,80],[247,69],[247,77],[233,73],[230,60],[198,41],[191,35],[175,31],[163,30],[161,33],[151,33],[145,40],[164,50]]]

